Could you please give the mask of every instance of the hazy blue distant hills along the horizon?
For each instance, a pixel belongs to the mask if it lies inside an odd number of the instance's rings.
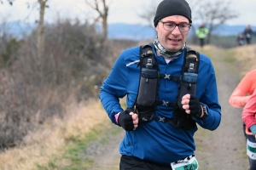
[[[27,34],[30,34],[33,29],[35,29],[36,24],[27,24],[21,21],[13,21],[2,25],[1,28],[5,31],[12,34],[14,37],[24,37]],[[96,26],[97,30],[101,30],[100,26]],[[197,29],[199,25],[195,25]],[[240,32],[245,29],[245,26],[228,26],[222,25],[218,29],[212,32],[213,35],[219,36],[237,36]],[[256,34],[256,26],[252,26],[254,33]],[[193,34],[193,30],[189,31],[189,36]],[[134,39],[134,40],[143,40],[143,39],[152,39],[155,37],[155,30],[150,26],[143,25],[132,25],[125,23],[115,23],[108,25],[108,38],[111,39]]]

